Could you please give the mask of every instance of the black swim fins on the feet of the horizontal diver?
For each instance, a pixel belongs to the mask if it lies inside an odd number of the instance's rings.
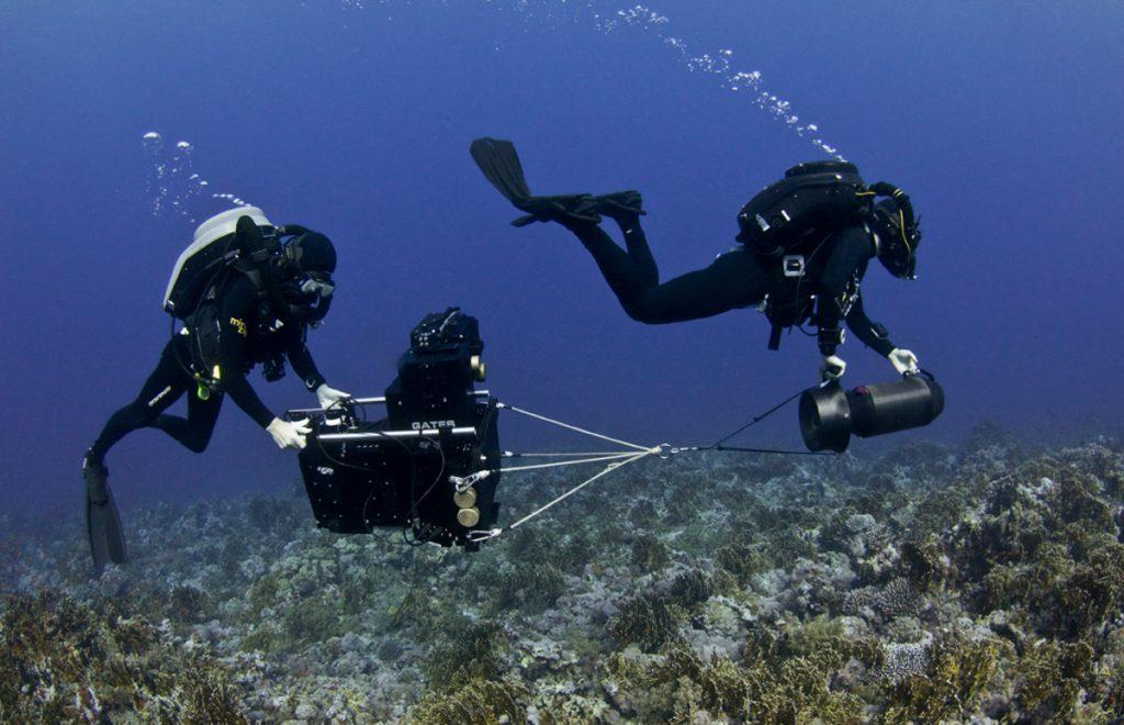
[[[511,221],[513,226],[525,227],[535,221],[582,221],[597,224],[600,216],[593,211],[588,193],[535,197],[531,193],[527,178],[523,173],[519,154],[515,144],[501,138],[477,138],[469,146],[469,153],[484,178],[504,194],[504,198],[527,215]]]

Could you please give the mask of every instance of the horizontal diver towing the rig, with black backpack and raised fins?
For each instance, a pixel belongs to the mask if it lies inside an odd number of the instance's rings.
[[[742,208],[737,247],[705,269],[661,284],[640,224],[646,212],[638,191],[536,197],[510,142],[478,138],[470,152],[488,181],[526,212],[511,224],[556,221],[570,229],[637,321],[660,325],[758,307],[772,325],[770,350],[779,347],[786,328],[803,329],[810,321],[817,328],[823,380],[837,380],[846,370],[837,355],[845,321],[897,372],[918,371],[917,356],[897,347],[886,328],[871,321],[859,293],[876,256],[894,277],[915,279],[918,219],[900,189],[885,182],[868,187],[854,164],[823,161],[789,169]],[[876,202],[877,197],[885,198]],[[602,216],[620,228],[625,248],[600,227]]]

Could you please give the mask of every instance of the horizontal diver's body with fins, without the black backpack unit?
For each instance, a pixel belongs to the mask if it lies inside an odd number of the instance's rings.
[[[795,257],[765,256],[743,245],[718,255],[705,269],[661,284],[640,224],[644,214],[640,192],[535,197],[509,142],[478,139],[471,151],[488,180],[527,212],[513,224],[558,221],[570,229],[589,250],[620,306],[635,320],[651,325],[678,323],[764,303],[779,310],[776,319],[780,323],[774,320],[770,339],[772,348],[779,343],[782,327],[809,319],[815,324],[823,356],[819,372],[825,379],[837,379],[846,369],[836,355],[844,339],[842,321],[898,372],[917,371],[917,356],[896,347],[886,328],[870,320],[859,293],[867,266],[876,256],[895,277],[914,277],[914,252],[921,232],[913,221],[908,198],[900,190],[874,184],[871,188],[880,188],[879,193],[890,198],[845,223],[822,221],[819,226],[826,232],[817,235],[813,230],[800,241],[807,253],[799,255],[798,269],[789,273],[785,265]],[[625,248],[600,227],[601,216],[620,227]]]

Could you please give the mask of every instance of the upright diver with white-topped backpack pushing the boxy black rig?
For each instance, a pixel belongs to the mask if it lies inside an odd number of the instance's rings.
[[[279,380],[285,359],[320,407],[350,398],[327,384],[306,344],[308,328],[318,327],[330,307],[335,269],[328,237],[294,225],[274,227],[254,207],[230,209],[196,229],[164,297],[172,337],[136,399],[110,416],[82,461],[87,527],[99,572],[127,560],[105,457],[128,433],[156,428],[201,453],[229,395],[280,448],[303,448],[307,422],[274,416],[246,379],[263,363],[266,381]],[[179,333],[176,318],[183,320]],[[164,413],[188,392],[185,418]]]

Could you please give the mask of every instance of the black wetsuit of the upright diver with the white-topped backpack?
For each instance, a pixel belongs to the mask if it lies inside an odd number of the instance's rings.
[[[115,413],[101,435],[90,447],[96,460],[138,428],[153,427],[169,434],[189,450],[201,453],[210,442],[224,393],[263,428],[273,420],[273,414],[262,402],[246,380],[247,373],[260,362],[278,353],[289,359],[292,369],[309,390],[324,383],[312,355],[305,344],[306,327],[299,324],[272,323],[266,329],[259,319],[257,297],[250,281],[241,274],[230,278],[221,292],[217,315],[219,326],[218,359],[215,364],[221,373],[221,391],[214,391],[207,400],[196,395],[197,382],[187,366],[191,352],[189,335],[175,335],[161,354],[156,369],[140,389],[137,398]],[[173,402],[190,391],[188,417],[162,415]]]

